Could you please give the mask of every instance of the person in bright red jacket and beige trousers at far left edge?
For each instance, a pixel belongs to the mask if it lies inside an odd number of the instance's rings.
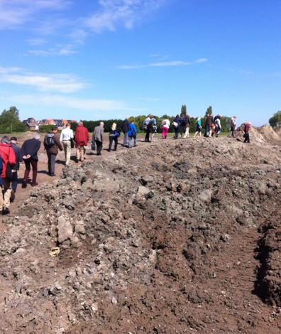
[[[2,206],[0,211],[2,211],[2,215],[8,215],[10,213],[11,176],[12,169],[16,166],[16,155],[13,148],[9,144],[9,138],[7,136],[3,136],[0,141],[0,156],[3,162],[3,169],[1,173],[3,181],[3,195],[1,194],[0,205],[2,203]]]

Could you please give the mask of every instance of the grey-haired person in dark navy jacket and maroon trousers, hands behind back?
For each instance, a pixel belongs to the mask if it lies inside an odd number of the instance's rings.
[[[31,185],[34,187],[38,185],[36,181],[37,178],[37,166],[38,166],[38,151],[40,149],[41,142],[39,134],[35,134],[32,139],[27,139],[23,142],[23,146],[21,146],[21,156],[23,158],[23,162],[26,166],[26,170],[24,171],[23,183],[22,187],[26,188],[29,173],[31,172],[32,167],[32,181]]]

